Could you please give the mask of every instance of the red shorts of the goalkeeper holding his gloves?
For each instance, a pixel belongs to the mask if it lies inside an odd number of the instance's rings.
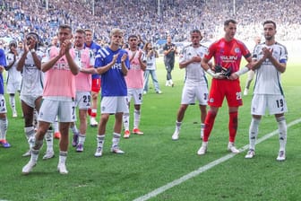
[[[211,92],[209,94],[208,105],[221,107],[224,98],[228,101],[228,107],[238,107],[243,105],[239,80],[218,80],[212,79]]]

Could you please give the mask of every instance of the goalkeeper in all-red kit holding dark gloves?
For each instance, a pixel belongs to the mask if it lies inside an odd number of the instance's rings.
[[[207,151],[211,129],[225,97],[228,101],[229,113],[228,151],[231,153],[239,153],[239,150],[236,149],[234,144],[238,122],[238,107],[243,104],[238,77],[249,70],[247,66],[241,69],[239,69],[239,66],[242,57],[245,57],[245,60],[249,63],[248,66],[251,66],[252,57],[250,51],[245,47],[245,44],[234,38],[236,34],[236,21],[226,21],[224,23],[224,31],[224,38],[211,44],[208,53],[203,57],[201,62],[202,68],[210,74],[213,79],[208,102],[210,109],[205,119],[202,146],[197,152],[199,155],[203,155]],[[208,66],[211,57],[214,58],[214,71]]]

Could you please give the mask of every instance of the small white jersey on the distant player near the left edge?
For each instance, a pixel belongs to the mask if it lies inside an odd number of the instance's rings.
[[[8,52],[6,54],[7,64],[13,63],[14,54],[12,52]],[[17,64],[20,57],[16,57],[13,66],[7,71],[7,84],[20,83],[22,82],[22,74],[20,71],[17,71]],[[20,89],[19,89],[20,90]]]

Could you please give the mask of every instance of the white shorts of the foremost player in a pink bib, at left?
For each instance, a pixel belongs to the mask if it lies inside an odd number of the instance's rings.
[[[74,102],[44,99],[39,109],[39,121],[54,123],[56,121],[56,115],[58,122],[75,121]]]

